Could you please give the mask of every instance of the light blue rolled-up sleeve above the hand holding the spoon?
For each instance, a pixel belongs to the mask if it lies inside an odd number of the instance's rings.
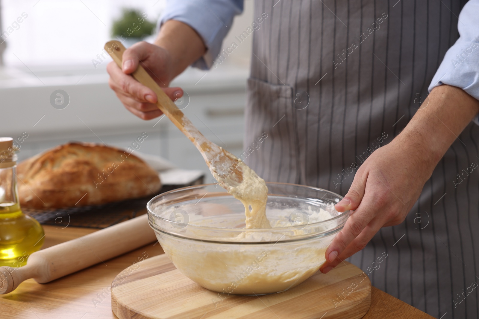
[[[213,65],[234,16],[242,11],[243,0],[168,0],[159,26],[168,20],[177,20],[192,27],[203,38],[207,49],[192,66],[205,70]]]

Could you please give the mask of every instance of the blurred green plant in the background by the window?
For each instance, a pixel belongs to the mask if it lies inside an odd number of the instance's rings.
[[[123,9],[120,19],[112,26],[112,35],[143,38],[155,30],[156,24],[146,20],[148,15],[134,9]]]

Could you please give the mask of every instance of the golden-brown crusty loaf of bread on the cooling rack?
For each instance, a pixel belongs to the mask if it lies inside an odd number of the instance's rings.
[[[93,143],[67,143],[17,166],[20,205],[58,209],[153,195],[158,173],[137,156]]]

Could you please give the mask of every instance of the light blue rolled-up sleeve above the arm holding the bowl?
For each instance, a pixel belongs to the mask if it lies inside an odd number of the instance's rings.
[[[429,92],[442,84],[462,88],[479,100],[479,0],[469,0],[459,14],[459,39],[447,50],[429,85]],[[474,122],[479,125],[479,116]]]

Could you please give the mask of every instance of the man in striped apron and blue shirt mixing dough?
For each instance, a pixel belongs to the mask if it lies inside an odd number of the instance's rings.
[[[336,209],[351,216],[320,270],[352,256],[373,285],[437,318],[479,318],[479,0],[465,3],[256,0],[245,113],[245,145],[270,136],[247,161],[266,181],[345,195]],[[167,87],[191,64],[211,67],[241,11],[170,1],[155,44],[108,66],[111,88],[135,115],[159,116],[127,74],[141,60]]]

